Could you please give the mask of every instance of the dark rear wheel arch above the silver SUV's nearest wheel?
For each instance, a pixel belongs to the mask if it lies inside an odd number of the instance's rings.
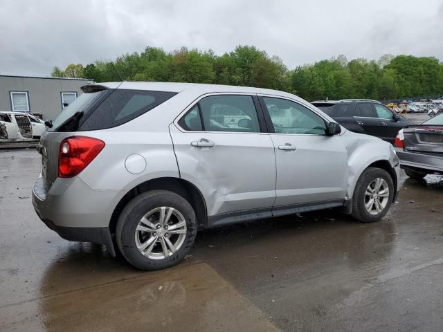
[[[132,190],[129,190],[122,199],[120,199],[116,208],[114,208],[109,221],[109,230],[111,231],[111,234],[115,234],[118,216],[120,216],[120,213],[127,203],[139,194],[150,190],[169,190],[170,192],[179,194],[186,199],[194,209],[199,227],[206,227],[208,214],[206,202],[201,191],[195,185],[182,178],[162,177],[152,178],[136,185]]]

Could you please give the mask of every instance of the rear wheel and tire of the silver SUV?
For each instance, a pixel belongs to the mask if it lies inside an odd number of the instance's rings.
[[[166,190],[136,196],[121,212],[116,227],[118,249],[141,270],[160,270],[179,263],[196,234],[197,218],[190,203]]]

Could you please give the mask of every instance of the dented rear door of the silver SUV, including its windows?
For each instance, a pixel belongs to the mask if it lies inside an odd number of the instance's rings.
[[[251,95],[208,95],[170,125],[180,176],[201,191],[208,216],[273,206],[273,142],[256,105]]]

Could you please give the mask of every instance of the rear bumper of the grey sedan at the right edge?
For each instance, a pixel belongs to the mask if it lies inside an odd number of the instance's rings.
[[[443,173],[443,156],[408,152],[398,147],[395,148],[395,151],[400,159],[401,168],[422,169],[428,173]]]

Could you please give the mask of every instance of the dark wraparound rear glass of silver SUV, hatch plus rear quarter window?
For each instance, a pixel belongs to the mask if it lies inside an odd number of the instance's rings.
[[[154,109],[176,94],[127,89],[85,91],[60,113],[49,131],[89,131],[117,127]]]

